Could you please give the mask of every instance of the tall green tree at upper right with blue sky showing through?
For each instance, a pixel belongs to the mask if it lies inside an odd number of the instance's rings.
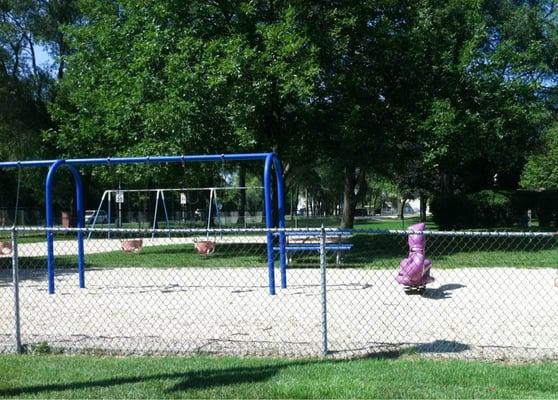
[[[548,2],[421,2],[417,54],[424,96],[415,108],[423,167],[443,193],[513,188],[548,123]],[[550,13],[550,14],[549,14]],[[425,58],[428,57],[428,58]]]

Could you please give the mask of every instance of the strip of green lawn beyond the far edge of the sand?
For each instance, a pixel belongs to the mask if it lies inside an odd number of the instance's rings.
[[[396,268],[407,256],[406,237],[359,234],[343,241],[353,243],[341,268]],[[557,268],[558,237],[506,238],[428,237],[427,256],[436,269],[518,267]],[[335,265],[335,254],[328,257]],[[56,257],[58,267],[74,267],[75,256]],[[20,252],[20,268],[42,268],[46,257],[25,257]],[[182,268],[182,267],[265,267],[264,244],[218,244],[209,257],[198,255],[192,244],[146,246],[139,253],[110,251],[86,257],[87,268]],[[317,252],[293,253],[291,268],[318,267]],[[11,259],[0,259],[0,268],[10,268]]]

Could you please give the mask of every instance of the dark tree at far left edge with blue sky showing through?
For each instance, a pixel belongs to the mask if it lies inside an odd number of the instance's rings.
[[[44,151],[40,132],[51,126],[46,109],[51,79],[35,57],[38,17],[35,1],[0,1],[0,159],[40,157]],[[42,199],[41,174],[22,171],[21,177],[20,204]],[[0,171],[3,205],[15,204],[17,180],[18,171]]]

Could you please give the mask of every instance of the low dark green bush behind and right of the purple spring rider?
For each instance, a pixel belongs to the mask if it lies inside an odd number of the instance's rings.
[[[430,205],[440,229],[495,228],[516,221],[511,194],[483,190],[470,194],[435,196]]]

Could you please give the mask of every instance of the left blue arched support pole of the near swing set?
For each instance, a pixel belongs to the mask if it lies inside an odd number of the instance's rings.
[[[84,205],[83,205],[83,185],[79,172],[72,165],[66,164],[64,160],[55,161],[49,168],[46,178],[46,226],[47,228],[54,227],[54,177],[56,171],[62,165],[67,166],[74,177],[76,185],[76,214],[77,214],[77,227],[83,228],[85,225],[84,218]],[[52,230],[47,231],[47,267],[48,267],[48,293],[54,293],[54,233]],[[85,287],[85,257],[83,247],[83,232],[78,231],[78,274],[79,274],[79,287]]]

